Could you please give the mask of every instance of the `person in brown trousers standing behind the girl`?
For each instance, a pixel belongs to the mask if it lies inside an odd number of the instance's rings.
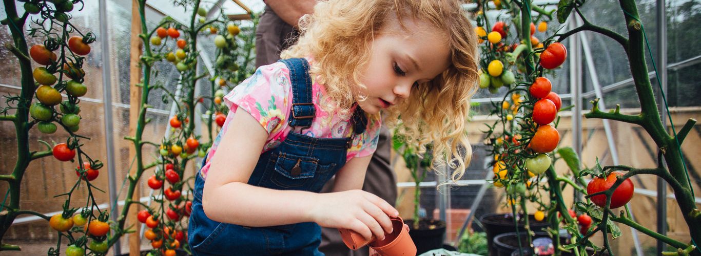
[[[256,29],[256,69],[273,64],[280,59],[280,52],[297,41],[299,18],[311,14],[316,0],[266,0],[266,7]],[[397,201],[397,178],[390,164],[391,134],[384,125],[380,129],[377,149],[370,159],[362,190],[375,194],[394,206]],[[333,192],[334,182],[329,180],[321,193]],[[351,250],[343,243],[338,229],[322,227],[319,250],[329,256],[367,256],[368,247]]]

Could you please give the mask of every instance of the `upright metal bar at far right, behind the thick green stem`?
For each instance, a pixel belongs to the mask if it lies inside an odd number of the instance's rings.
[[[667,6],[665,0],[657,0],[657,70],[660,83],[662,84],[662,92],[658,92],[658,108],[660,110],[660,119],[662,127],[667,129],[667,111],[665,109],[663,95],[667,95]],[[658,205],[657,205],[657,224],[658,233],[665,236],[667,234],[667,183],[664,179],[658,177]],[[658,255],[662,255],[662,251],[666,250],[665,243],[657,241]]]

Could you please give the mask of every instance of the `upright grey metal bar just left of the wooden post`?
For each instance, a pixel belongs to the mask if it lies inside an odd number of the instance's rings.
[[[118,222],[118,207],[114,206],[118,200],[117,196],[117,176],[114,167],[114,126],[112,116],[112,76],[111,57],[109,54],[109,30],[107,28],[107,0],[100,0],[100,47],[102,47],[102,109],[104,111],[104,145],[107,150],[107,187],[109,189],[109,202],[111,204],[110,217],[114,222]],[[114,204],[112,204],[114,202]],[[114,255],[121,255],[120,241],[114,242]]]

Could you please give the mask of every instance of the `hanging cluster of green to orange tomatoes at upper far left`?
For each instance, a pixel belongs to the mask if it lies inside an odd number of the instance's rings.
[[[72,132],[78,131],[81,109],[76,104],[76,99],[88,92],[88,87],[83,84],[83,77],[85,77],[85,71],[81,68],[83,58],[79,56],[90,53],[88,43],[93,41],[95,38],[91,36],[72,36],[67,41],[70,52],[65,52],[61,60],[53,52],[61,46],[56,38],[50,38],[45,45],[33,45],[29,49],[29,56],[34,62],[42,65],[32,72],[38,84],[36,99],[39,102],[29,106],[29,115],[38,122],[37,127],[42,133],[53,134],[57,130],[54,121],[60,122]],[[74,60],[69,60],[67,57],[69,54],[74,57]],[[76,55],[79,56],[76,57]],[[64,80],[64,76],[69,79]],[[68,94],[68,100],[62,100],[61,92]],[[55,111],[54,107],[57,105],[60,113]]]

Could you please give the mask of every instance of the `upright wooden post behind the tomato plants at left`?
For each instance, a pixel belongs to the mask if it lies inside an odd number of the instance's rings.
[[[129,134],[135,136],[137,132],[137,120],[139,120],[139,109],[141,109],[141,97],[142,89],[138,87],[137,84],[141,82],[141,68],[139,66],[139,59],[142,54],[142,39],[139,38],[139,34],[142,33],[141,29],[141,17],[139,16],[139,3],[138,0],[132,0],[132,27],[131,27],[131,50],[130,50],[130,60],[129,60]],[[136,149],[130,148],[129,158],[134,159],[136,156]],[[129,171],[129,176],[136,176],[137,167],[132,168]],[[134,187],[134,194],[132,200],[139,200],[141,194],[141,189],[137,185]],[[141,251],[141,237],[139,237],[139,228],[137,221],[137,213],[140,210],[138,204],[134,204],[129,208],[129,213],[125,216],[127,218],[127,223],[135,223],[135,232],[129,234],[129,255],[139,256]]]

